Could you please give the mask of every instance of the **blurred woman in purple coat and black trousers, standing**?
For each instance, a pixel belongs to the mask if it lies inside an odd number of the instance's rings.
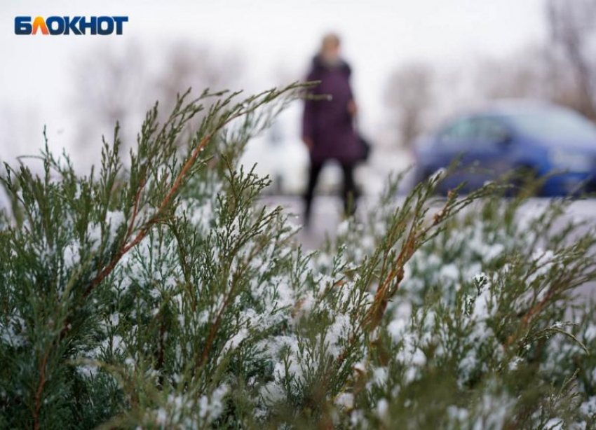
[[[330,95],[327,100],[307,100],[302,118],[302,140],[309,148],[311,169],[304,195],[304,222],[308,226],[311,204],[317,179],[327,160],[337,160],[344,174],[342,195],[348,210],[350,199],[355,202],[356,188],[353,178],[355,163],[362,158],[363,147],[353,127],[356,113],[350,86],[351,69],[339,55],[340,41],[337,34],[323,38],[319,53],[313,58],[308,81],[320,81],[312,90],[313,95]]]

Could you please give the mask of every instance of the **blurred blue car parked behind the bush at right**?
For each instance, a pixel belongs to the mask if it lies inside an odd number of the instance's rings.
[[[501,103],[460,116],[419,141],[414,153],[417,180],[460,158],[440,193],[463,181],[469,192],[515,170],[539,176],[562,171],[546,180],[543,196],[596,191],[596,125],[551,104]]]

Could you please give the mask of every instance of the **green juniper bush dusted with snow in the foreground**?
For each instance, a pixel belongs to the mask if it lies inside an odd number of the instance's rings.
[[[1,429],[594,427],[593,228],[494,184],[438,199],[438,172],[305,253],[238,167],[303,93],[180,97],[87,176],[47,144],[6,165]]]

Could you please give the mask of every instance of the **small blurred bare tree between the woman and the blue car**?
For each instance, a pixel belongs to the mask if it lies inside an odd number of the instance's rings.
[[[433,103],[433,73],[426,64],[412,63],[391,74],[385,102],[400,144],[409,146],[424,130],[426,114]]]

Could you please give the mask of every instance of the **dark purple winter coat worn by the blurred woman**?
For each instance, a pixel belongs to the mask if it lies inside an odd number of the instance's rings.
[[[313,60],[308,81],[321,81],[311,92],[330,95],[331,100],[306,100],[302,118],[302,136],[313,141],[311,162],[337,160],[353,164],[363,155],[355,133],[348,102],[353,99],[350,87],[351,69],[345,62],[327,67],[319,57]]]

